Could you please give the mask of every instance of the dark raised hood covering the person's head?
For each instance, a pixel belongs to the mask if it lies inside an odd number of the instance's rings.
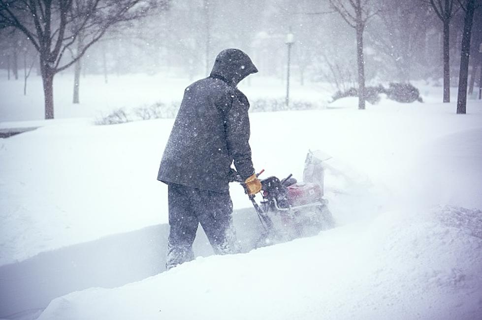
[[[238,83],[257,68],[251,58],[239,49],[225,49],[216,57],[211,77],[219,77],[227,83],[237,86]]]

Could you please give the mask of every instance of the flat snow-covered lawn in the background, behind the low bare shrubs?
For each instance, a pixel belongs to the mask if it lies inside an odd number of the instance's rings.
[[[0,122],[42,119],[44,100],[41,78],[29,78],[27,95],[24,96],[23,81],[6,81],[6,75],[1,71],[5,70],[0,70]],[[286,87],[281,79],[263,78],[258,74],[250,78],[252,79],[248,78],[241,83],[240,87],[251,100],[284,98]],[[80,79],[80,104],[72,104],[73,75],[59,74],[54,78],[55,118],[98,118],[119,108],[129,111],[156,102],[178,104],[184,89],[193,81],[162,74],[129,74],[111,76],[105,84],[103,76],[88,75]],[[330,92],[323,90],[324,87],[329,86],[300,86],[294,82],[291,84],[290,96],[295,100],[324,104],[330,99]]]

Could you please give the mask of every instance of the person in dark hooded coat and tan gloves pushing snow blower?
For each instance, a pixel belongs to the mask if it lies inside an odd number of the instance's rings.
[[[216,254],[239,251],[229,196],[231,163],[248,194],[260,191],[249,145],[249,102],[236,87],[257,68],[238,49],[222,51],[208,78],[184,98],[162,155],[158,180],[168,185],[169,239],[166,268],[193,260],[198,224]]]

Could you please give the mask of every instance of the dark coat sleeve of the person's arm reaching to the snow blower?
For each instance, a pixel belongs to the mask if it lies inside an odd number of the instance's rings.
[[[234,166],[243,180],[255,173],[251,160],[249,102],[246,96],[236,90],[232,97],[231,108],[226,114],[226,140]]]

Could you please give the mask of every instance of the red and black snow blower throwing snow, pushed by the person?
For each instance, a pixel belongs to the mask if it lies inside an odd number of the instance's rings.
[[[276,176],[261,179],[260,203],[255,195],[249,196],[264,230],[257,247],[315,235],[334,227],[328,201],[323,199],[323,161],[327,159],[320,152],[315,155],[309,151],[303,182],[297,182],[292,175],[282,180]],[[234,175],[233,181],[243,185],[239,175]]]

